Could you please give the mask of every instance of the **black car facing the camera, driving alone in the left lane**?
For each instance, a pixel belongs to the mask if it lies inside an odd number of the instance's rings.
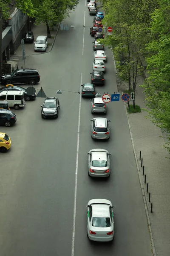
[[[55,97],[46,98],[41,105],[41,116],[42,118],[55,118],[58,117],[59,113],[59,99]]]

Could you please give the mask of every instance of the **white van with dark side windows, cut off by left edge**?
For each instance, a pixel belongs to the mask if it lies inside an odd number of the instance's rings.
[[[23,91],[3,91],[0,93],[0,101],[1,100],[7,100],[9,108],[19,109],[26,105]]]

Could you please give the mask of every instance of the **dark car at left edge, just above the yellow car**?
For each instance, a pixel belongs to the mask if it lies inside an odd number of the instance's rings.
[[[14,125],[17,121],[16,114],[11,110],[0,109],[0,125],[5,125],[7,127]]]

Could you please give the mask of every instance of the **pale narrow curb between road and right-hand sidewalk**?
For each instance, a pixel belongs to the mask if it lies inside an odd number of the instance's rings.
[[[113,55],[113,48],[112,48],[112,47],[111,47],[111,52],[112,52],[112,55]],[[116,71],[116,74],[117,74],[116,63],[115,63],[114,55],[113,55],[113,63],[114,63],[115,71]],[[116,86],[117,86],[117,84],[116,84]],[[118,88],[117,88],[117,90],[118,90]],[[140,182],[140,186],[141,186],[141,190],[142,190],[142,198],[143,198],[143,201],[144,201],[144,208],[145,208],[146,217],[147,217],[147,224],[148,224],[148,227],[149,227],[149,233],[150,233],[150,241],[151,241],[151,246],[152,246],[152,252],[153,252],[153,256],[156,256],[155,244],[154,244],[154,241],[153,241],[153,233],[152,233],[152,229],[151,229],[150,218],[149,218],[149,212],[148,212],[147,203],[146,203],[146,195],[145,195],[145,192],[144,192],[143,181],[142,181],[141,172],[140,172],[140,169],[139,169],[139,164],[138,164],[138,159],[137,159],[135,144],[134,144],[134,141],[133,141],[132,130],[131,130],[130,122],[129,122],[129,115],[128,115],[128,113],[127,113],[126,103],[125,103],[125,102],[124,102],[124,106],[125,106],[126,117],[127,117],[127,122],[128,122],[128,126],[129,126],[129,131],[130,131],[130,138],[131,138],[132,147],[133,147],[133,154],[134,154],[134,157],[135,157],[136,167],[137,167],[138,176],[139,176],[139,182]]]

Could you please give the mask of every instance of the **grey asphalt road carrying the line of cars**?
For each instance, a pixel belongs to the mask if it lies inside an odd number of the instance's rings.
[[[40,73],[41,82],[35,87],[39,90],[42,86],[47,96],[56,96],[59,89],[78,92],[81,80],[90,82],[94,39],[89,28],[93,17],[89,16],[85,3],[80,0],[75,12],[63,22],[74,28],[59,31],[51,52],[27,58],[27,66],[37,68]],[[105,87],[96,87],[99,93],[117,90],[111,51],[107,52],[107,81]],[[43,99],[37,98],[15,111],[14,127],[0,128],[12,140],[11,150],[0,154],[0,256],[151,256],[123,102],[108,104],[111,138],[98,142],[91,139],[90,100],[81,100],[78,135],[79,94],[64,92],[58,98],[57,120],[41,118]],[[105,148],[112,154],[109,179],[88,177],[86,153],[92,148]],[[77,208],[72,247],[76,170]],[[113,243],[93,243],[87,239],[85,206],[92,198],[109,199],[115,206]]]

